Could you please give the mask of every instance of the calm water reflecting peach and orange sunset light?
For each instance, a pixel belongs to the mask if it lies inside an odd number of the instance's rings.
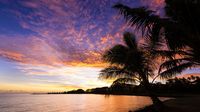
[[[142,96],[0,94],[0,112],[128,112],[149,104]]]

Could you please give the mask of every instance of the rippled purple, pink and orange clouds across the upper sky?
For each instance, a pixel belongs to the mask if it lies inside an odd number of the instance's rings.
[[[120,43],[122,33],[129,30],[123,18],[111,8],[114,3],[106,0],[18,2],[22,8],[13,6],[9,11],[18,16],[22,28],[35,33],[28,38],[22,39],[19,35],[12,41],[8,39],[7,44],[16,45],[9,50],[5,50],[6,45],[1,46],[1,56],[30,64],[100,64],[101,53]],[[146,3],[149,2],[141,2]],[[155,0],[150,6],[154,4],[156,7],[161,2]]]

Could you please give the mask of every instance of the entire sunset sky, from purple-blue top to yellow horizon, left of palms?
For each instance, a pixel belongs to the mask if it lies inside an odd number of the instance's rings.
[[[112,6],[164,0],[1,0],[0,92],[47,92],[109,86],[98,79],[101,54],[133,31]]]

